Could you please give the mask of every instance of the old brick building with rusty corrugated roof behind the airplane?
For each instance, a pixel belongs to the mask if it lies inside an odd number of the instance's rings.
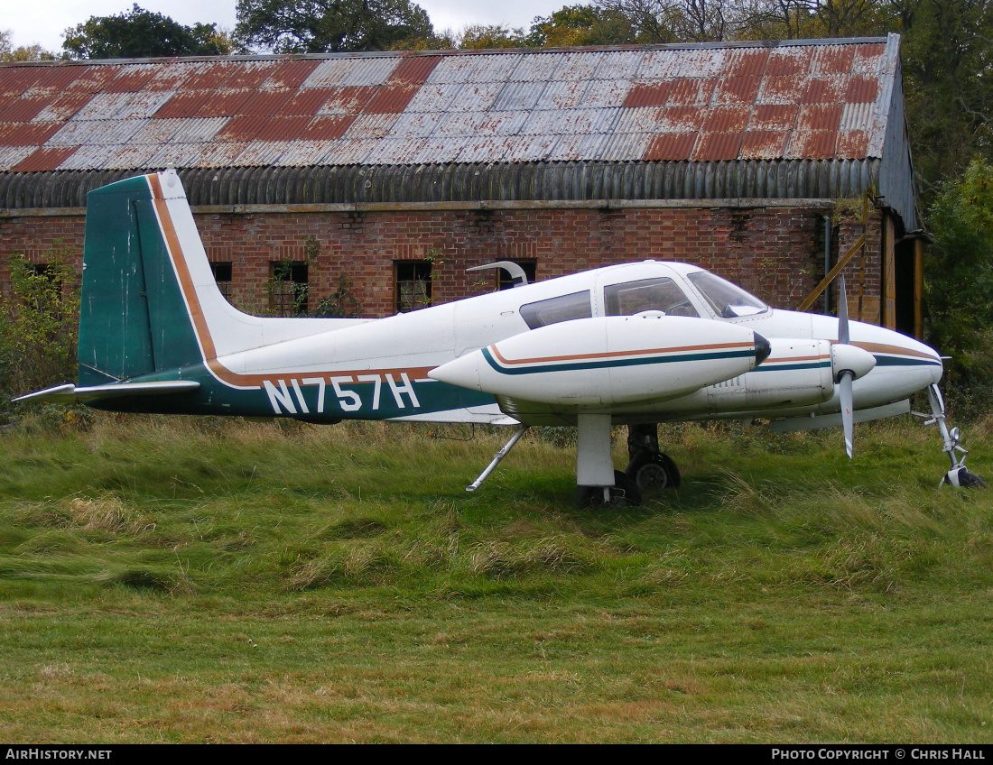
[[[623,261],[920,334],[900,40],[0,65],[6,261],[78,259],[85,193],[175,167],[253,313],[384,316]],[[863,199],[868,199],[865,206]],[[816,308],[822,309],[823,299]]]

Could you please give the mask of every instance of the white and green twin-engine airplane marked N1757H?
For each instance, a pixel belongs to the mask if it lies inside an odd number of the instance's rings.
[[[951,469],[982,485],[945,424],[938,353],[847,317],[773,309],[697,266],[646,260],[384,319],[267,318],[220,294],[174,170],[90,191],[78,381],[16,401],[113,412],[512,426],[476,491],[531,426],[577,429],[581,506],[678,486],[657,424],[769,420],[785,432],[910,412],[926,390]],[[843,288],[842,288],[843,289]],[[611,431],[629,427],[616,470]]]

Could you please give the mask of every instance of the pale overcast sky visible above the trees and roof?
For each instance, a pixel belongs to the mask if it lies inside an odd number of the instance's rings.
[[[140,0],[147,11],[161,13],[188,27],[197,22],[230,30],[236,0]],[[535,16],[549,16],[578,0],[414,0],[428,12],[435,30],[461,32],[470,24],[503,24],[528,29]],[[131,9],[134,0],[0,0],[0,30],[10,30],[14,47],[38,44],[62,52],[63,32],[90,16],[111,16]]]

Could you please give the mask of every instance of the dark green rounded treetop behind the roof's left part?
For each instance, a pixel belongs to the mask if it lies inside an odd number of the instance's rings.
[[[231,43],[216,24],[186,27],[137,4],[129,13],[90,16],[66,30],[63,49],[70,59],[142,59],[164,56],[223,56]]]

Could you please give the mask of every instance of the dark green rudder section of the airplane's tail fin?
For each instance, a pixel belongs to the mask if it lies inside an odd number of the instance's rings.
[[[202,360],[149,181],[86,197],[79,307],[79,385],[100,385]]]

